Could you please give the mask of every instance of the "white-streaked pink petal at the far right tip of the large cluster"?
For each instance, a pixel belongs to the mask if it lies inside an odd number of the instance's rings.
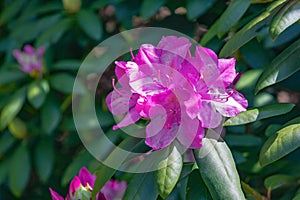
[[[240,112],[246,111],[247,99],[239,92],[232,90],[228,100],[224,102],[214,101],[217,111],[225,117],[235,117]]]

